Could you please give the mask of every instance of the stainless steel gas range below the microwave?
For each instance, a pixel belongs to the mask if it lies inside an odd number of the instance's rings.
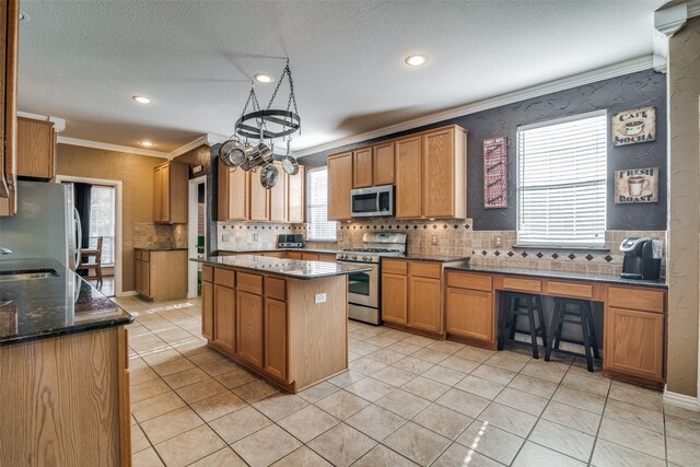
[[[348,314],[373,325],[382,323],[381,258],[406,255],[406,234],[368,232],[362,236],[362,248],[349,248],[336,255],[340,264],[362,264],[372,268],[368,272],[352,273],[348,278]]]

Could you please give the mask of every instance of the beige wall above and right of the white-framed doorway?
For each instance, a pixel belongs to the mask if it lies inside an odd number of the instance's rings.
[[[122,182],[121,288],[133,290],[135,225],[153,223],[153,167],[164,159],[58,144],[57,173]]]

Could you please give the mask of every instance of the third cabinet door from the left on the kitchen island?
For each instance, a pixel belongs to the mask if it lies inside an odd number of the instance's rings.
[[[264,310],[262,296],[238,290],[236,296],[236,354],[264,367]]]

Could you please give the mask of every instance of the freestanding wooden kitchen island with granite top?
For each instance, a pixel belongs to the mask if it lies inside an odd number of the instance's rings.
[[[348,275],[363,266],[238,255],[202,267],[209,345],[296,393],[348,369]]]

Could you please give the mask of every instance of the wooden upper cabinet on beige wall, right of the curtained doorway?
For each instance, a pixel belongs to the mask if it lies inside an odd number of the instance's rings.
[[[153,170],[153,222],[156,224],[187,223],[186,164],[165,162]]]

